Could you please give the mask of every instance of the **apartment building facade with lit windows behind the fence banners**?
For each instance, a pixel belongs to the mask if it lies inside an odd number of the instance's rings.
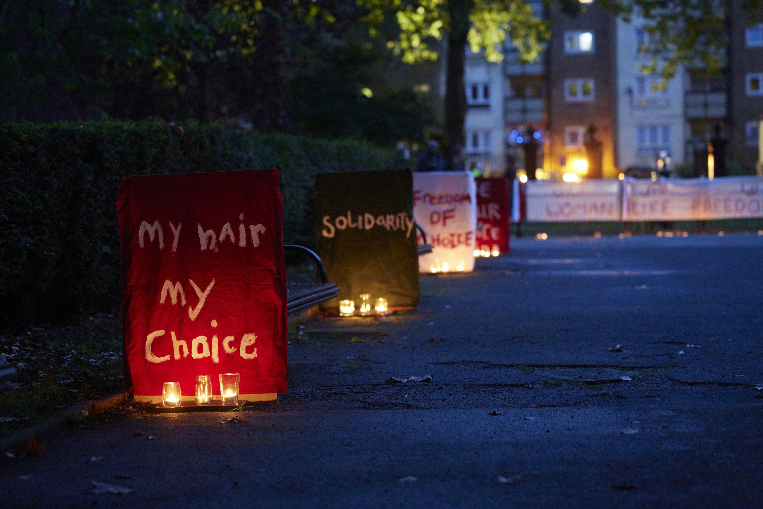
[[[663,166],[707,174],[708,142],[718,137],[728,174],[755,172],[763,24],[748,26],[742,0],[729,2],[725,69],[680,68],[667,81],[642,72],[651,59],[642,18],[626,23],[593,2],[576,17],[531,5],[551,26],[539,60],[523,63],[510,44],[500,64],[468,53],[468,167],[530,176],[524,147],[537,130],[541,179],[617,178]]]

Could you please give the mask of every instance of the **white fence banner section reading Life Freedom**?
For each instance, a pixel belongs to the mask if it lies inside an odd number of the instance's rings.
[[[623,182],[623,221],[704,221],[763,217],[763,178],[628,178]]]

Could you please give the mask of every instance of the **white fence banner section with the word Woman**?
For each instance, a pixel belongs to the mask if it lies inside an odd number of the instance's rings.
[[[526,221],[620,221],[619,180],[530,180],[524,186]]]

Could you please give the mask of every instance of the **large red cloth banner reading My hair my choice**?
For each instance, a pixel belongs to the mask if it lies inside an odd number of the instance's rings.
[[[278,170],[128,177],[117,200],[124,390],[158,396],[240,373],[240,395],[286,391]]]

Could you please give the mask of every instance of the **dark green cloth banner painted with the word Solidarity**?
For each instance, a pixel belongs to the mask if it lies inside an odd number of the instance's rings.
[[[386,298],[390,308],[419,303],[419,264],[410,170],[320,173],[315,182],[317,250],[342,290],[324,302]]]

